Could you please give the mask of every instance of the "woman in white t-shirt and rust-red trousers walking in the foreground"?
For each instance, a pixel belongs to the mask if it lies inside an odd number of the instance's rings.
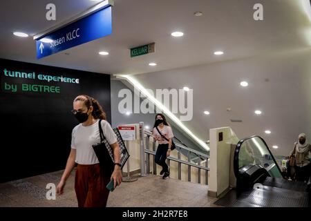
[[[114,187],[122,182],[120,169],[120,147],[117,137],[110,124],[106,122],[106,115],[102,106],[87,95],[79,95],[73,101],[73,114],[80,122],[73,128],[71,151],[67,160],[66,169],[61,181],[57,185],[57,194],[64,192],[64,186],[71,171],[77,164],[75,173],[75,193],[79,207],[104,207],[109,196],[106,185],[114,180]],[[93,150],[93,144],[100,142],[99,120],[106,140],[113,149],[115,169],[112,174],[106,174],[100,168],[99,161]]]

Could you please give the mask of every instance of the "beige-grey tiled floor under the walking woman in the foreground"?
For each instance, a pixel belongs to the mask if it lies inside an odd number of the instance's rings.
[[[46,184],[57,185],[62,171],[0,184],[0,206],[77,206],[74,174],[68,178],[64,194],[56,200],[46,199]],[[122,182],[109,195],[107,206],[216,206],[216,198],[208,197],[207,189],[201,184],[147,175],[135,182]]]

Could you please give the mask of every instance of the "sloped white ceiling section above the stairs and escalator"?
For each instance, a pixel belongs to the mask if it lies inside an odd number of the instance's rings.
[[[307,48],[136,75],[135,79],[153,90],[192,88],[194,117],[182,123],[202,140],[209,139],[209,128],[230,126],[240,139],[260,135],[270,147],[279,146],[274,153],[288,155],[299,133],[311,139],[310,60]],[[249,86],[241,87],[241,81]],[[262,114],[255,115],[255,110]],[[267,135],[265,130],[272,133]]]

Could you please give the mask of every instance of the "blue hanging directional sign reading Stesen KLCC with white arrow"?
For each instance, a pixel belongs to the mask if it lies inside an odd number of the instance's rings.
[[[37,59],[112,33],[111,6],[36,39]]]

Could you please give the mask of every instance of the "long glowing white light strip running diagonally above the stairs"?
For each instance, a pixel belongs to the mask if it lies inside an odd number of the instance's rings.
[[[205,144],[205,142],[203,142],[202,140],[200,140],[198,137],[196,137],[196,135],[194,135],[194,133],[192,133],[187,126],[185,126],[184,124],[182,124],[182,122],[180,121],[180,119],[178,119],[178,117],[176,117],[173,113],[171,113],[171,111],[169,111],[169,109],[164,106],[161,102],[159,102],[156,97],[153,97],[153,95],[151,95],[146,88],[144,88],[144,86],[142,86],[142,84],[140,84],[134,77],[129,76],[129,75],[116,75],[116,77],[122,77],[127,79],[135,88],[137,88],[138,90],[140,90],[140,93],[142,93],[144,96],[146,96],[151,102],[153,102],[153,104],[155,104],[158,108],[160,108],[161,111],[163,111],[164,114],[166,114],[175,124],[177,124],[178,126],[180,126],[180,128],[182,128],[182,130],[184,130],[190,137],[192,137],[200,146],[202,146],[202,148],[205,148],[205,150],[209,151],[209,146],[207,146],[207,144]]]

